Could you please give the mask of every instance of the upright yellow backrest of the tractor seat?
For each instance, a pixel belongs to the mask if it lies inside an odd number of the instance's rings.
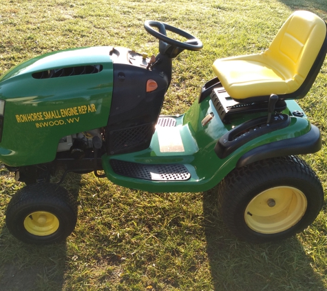
[[[317,65],[317,57],[320,57],[322,59],[318,60],[320,65],[318,64],[319,68],[315,70],[317,72],[313,81],[317,77],[326,56],[327,46],[319,56],[324,46],[326,23],[317,15],[300,10],[288,17],[264,54],[266,61],[283,75],[289,88],[296,91],[307,77],[312,77],[309,72]],[[304,96],[293,96],[296,99],[302,97]]]

